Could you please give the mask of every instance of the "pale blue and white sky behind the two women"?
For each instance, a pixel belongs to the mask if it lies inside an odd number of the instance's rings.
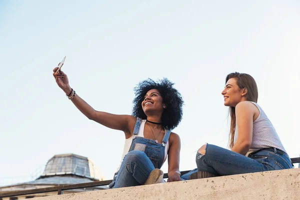
[[[70,86],[101,111],[130,114],[145,78],[175,82],[185,101],[173,130],[180,170],[196,167],[205,142],[227,146],[220,92],[233,71],[255,78],[259,105],[298,157],[299,10],[297,0],[1,0],[0,184],[28,180],[61,153],[87,156],[112,178],[124,133],[88,120],[56,85],[65,55]]]

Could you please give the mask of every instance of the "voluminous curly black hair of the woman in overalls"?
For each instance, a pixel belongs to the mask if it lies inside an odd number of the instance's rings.
[[[182,119],[183,99],[177,89],[173,87],[173,84],[167,78],[158,79],[156,82],[150,78],[140,81],[133,89],[135,97],[132,101],[132,115],[142,119],[147,118],[143,112],[141,102],[147,91],[157,89],[166,105],[162,112],[161,124],[164,128],[175,128]]]

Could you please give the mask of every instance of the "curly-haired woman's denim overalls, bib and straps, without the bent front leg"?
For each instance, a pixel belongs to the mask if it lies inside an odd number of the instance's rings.
[[[128,152],[132,150],[143,151],[152,162],[154,168],[160,168],[164,159],[165,144],[168,141],[171,131],[170,129],[166,129],[164,137],[162,139],[162,143],[156,143],[153,139],[147,139],[137,136],[141,122],[142,119],[137,117],[133,130],[132,142]],[[125,157],[126,155],[124,156],[124,158]],[[109,184],[109,188],[112,188],[114,186],[117,175],[118,172],[114,174],[113,180]]]

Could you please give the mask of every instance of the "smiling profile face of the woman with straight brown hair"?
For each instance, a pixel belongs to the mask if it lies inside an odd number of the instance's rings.
[[[245,97],[246,89],[239,88],[236,78],[230,78],[226,82],[225,88],[222,91],[224,97],[224,105],[235,107],[237,103],[247,100]]]

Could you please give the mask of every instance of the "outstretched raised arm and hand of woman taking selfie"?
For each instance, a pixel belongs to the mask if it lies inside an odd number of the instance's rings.
[[[58,67],[53,69],[53,76],[55,77],[57,85],[65,92],[66,95],[71,93],[71,87],[68,83],[67,75],[59,70]],[[122,130],[126,138],[130,137],[131,131],[134,128],[136,118],[131,115],[118,115],[107,112],[97,111],[93,109],[87,102],[80,98],[77,94],[73,96],[71,101],[74,105],[89,119],[94,120],[109,128]]]

